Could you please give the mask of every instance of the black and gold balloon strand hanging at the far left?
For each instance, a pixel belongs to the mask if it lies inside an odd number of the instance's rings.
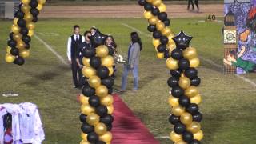
[[[39,11],[46,0],[22,0],[15,12],[7,44],[6,62],[23,65],[30,55],[30,41],[34,34],[34,23],[38,22]]]

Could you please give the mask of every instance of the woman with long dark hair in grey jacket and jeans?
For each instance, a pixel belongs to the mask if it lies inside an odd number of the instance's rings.
[[[122,74],[122,88],[120,92],[126,90],[127,85],[127,77],[130,71],[133,72],[134,75],[134,88],[133,91],[138,90],[138,64],[139,64],[139,56],[142,51],[142,41],[139,38],[137,32],[132,32],[130,34],[130,46],[128,50],[128,58],[127,63],[124,66],[123,74]]]

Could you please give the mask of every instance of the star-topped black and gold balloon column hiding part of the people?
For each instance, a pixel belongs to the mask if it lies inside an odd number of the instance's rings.
[[[112,86],[114,86],[114,58],[108,47],[102,45],[106,38],[100,32],[91,37],[95,48],[83,51],[84,83],[80,102],[82,102],[80,121],[82,122],[81,144],[111,142],[113,114]]]

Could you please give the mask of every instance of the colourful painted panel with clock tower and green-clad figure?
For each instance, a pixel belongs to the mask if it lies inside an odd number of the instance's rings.
[[[226,51],[223,62],[225,66],[234,66],[234,72],[237,74],[256,72],[256,0],[224,2],[225,18],[234,18],[234,26],[231,22],[224,22],[224,44],[226,47],[232,47],[233,43],[236,48]]]

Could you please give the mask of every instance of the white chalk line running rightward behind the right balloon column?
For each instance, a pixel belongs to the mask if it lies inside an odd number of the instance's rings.
[[[142,32],[141,30],[136,29],[136,28],[133,27],[133,26],[129,26],[129,25],[126,24],[126,23],[122,23],[122,26],[126,26],[126,27],[130,28],[131,30],[135,30],[135,31],[137,31],[139,34],[143,34],[143,35],[145,35],[146,37],[151,37],[150,34],[146,34],[146,33]],[[202,58],[202,57],[200,57],[200,58],[201,58],[203,61],[208,62],[210,65],[217,67],[218,69],[222,69],[222,68],[223,68],[223,66],[219,65],[218,63],[216,63],[216,62],[214,62],[214,61],[212,61],[212,60],[210,60],[210,59]],[[243,81],[250,83],[251,86],[256,87],[256,83],[253,82],[253,81],[251,81],[250,79],[245,78],[245,77],[243,77],[243,76],[241,76],[241,75],[239,75],[239,74],[234,74],[234,75],[235,75],[236,77],[238,77],[238,78],[241,78]]]

